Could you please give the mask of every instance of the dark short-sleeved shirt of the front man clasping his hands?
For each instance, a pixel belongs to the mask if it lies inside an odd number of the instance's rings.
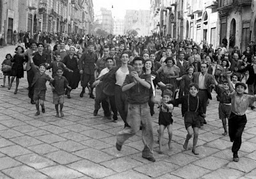
[[[141,74],[141,79],[145,79],[149,84],[151,84],[151,75],[150,74]],[[134,79],[131,74],[126,75],[124,85],[134,82]],[[139,82],[127,90],[127,102],[129,104],[145,104],[149,99],[149,90],[145,86],[141,85]]]

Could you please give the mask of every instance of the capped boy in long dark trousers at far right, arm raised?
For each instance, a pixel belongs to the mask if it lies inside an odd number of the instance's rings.
[[[234,90],[230,80],[231,74],[232,73],[227,74],[228,86],[231,91],[231,114],[228,118],[228,135],[230,137],[230,141],[233,143],[233,160],[234,162],[238,162],[239,157],[237,152],[241,147],[242,134],[247,122],[245,112],[249,104],[256,100],[256,95],[244,94],[246,84],[243,82],[237,82],[235,86],[236,89]]]

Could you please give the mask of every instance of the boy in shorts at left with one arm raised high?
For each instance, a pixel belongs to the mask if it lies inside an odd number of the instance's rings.
[[[31,68],[35,73],[31,86],[34,87],[33,100],[35,100],[35,103],[36,103],[35,116],[38,116],[40,114],[39,102],[42,107],[42,113],[45,113],[44,101],[45,101],[45,91],[47,90],[45,84],[47,81],[52,81],[53,79],[49,75],[45,74],[45,71],[46,71],[45,63],[40,64],[39,69],[37,69],[33,61],[33,56],[30,58],[30,61],[31,61]]]

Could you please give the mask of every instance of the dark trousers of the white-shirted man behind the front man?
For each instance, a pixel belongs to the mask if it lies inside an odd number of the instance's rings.
[[[122,91],[121,86],[115,86],[115,102],[118,113],[120,114],[122,120],[124,121],[125,127],[129,127],[126,118],[128,112],[128,102],[125,97],[125,93]]]

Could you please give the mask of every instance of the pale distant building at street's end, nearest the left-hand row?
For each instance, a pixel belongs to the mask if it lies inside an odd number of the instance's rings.
[[[111,10],[100,8],[99,12],[95,13],[95,29],[100,28],[108,33],[113,34],[114,19]]]

